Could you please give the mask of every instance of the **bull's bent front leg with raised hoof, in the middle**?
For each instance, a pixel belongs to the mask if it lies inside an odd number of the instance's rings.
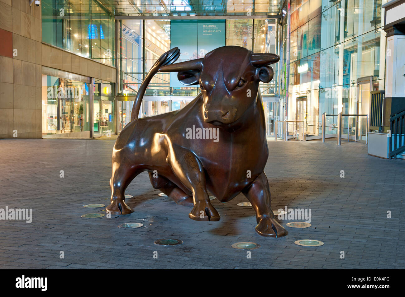
[[[184,147],[172,144],[169,145],[167,162],[181,183],[193,193],[194,207],[188,217],[196,221],[219,221],[220,214],[209,202],[200,160]]]

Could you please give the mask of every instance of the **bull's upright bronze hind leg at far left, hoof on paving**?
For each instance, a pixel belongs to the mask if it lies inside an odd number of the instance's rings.
[[[111,203],[105,209],[112,215],[126,215],[132,213],[132,209],[126,205],[124,192],[132,179],[142,170],[131,169],[126,164],[113,163],[113,174],[110,179]]]

